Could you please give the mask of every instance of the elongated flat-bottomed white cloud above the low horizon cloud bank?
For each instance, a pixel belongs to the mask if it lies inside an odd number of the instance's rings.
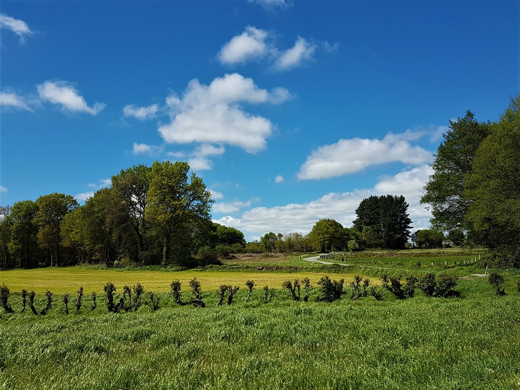
[[[400,161],[419,165],[431,160],[432,153],[408,140],[419,137],[412,131],[388,133],[383,139],[340,139],[311,152],[300,168],[298,178],[322,179],[361,172],[368,166]]]

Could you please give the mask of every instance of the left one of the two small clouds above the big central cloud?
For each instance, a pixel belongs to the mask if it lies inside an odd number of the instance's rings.
[[[222,46],[218,59],[223,64],[235,64],[262,57],[267,54],[266,38],[266,31],[248,26],[242,34]]]

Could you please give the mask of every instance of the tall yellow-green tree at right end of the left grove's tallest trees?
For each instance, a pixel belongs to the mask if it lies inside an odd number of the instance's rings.
[[[155,161],[150,170],[148,220],[162,246],[164,265],[184,263],[191,253],[190,227],[210,220],[211,192],[186,162]]]

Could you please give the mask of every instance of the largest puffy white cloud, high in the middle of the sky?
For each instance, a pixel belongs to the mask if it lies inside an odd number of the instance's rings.
[[[168,144],[227,144],[256,153],[266,148],[273,125],[241,104],[280,104],[290,97],[283,88],[269,92],[238,73],[217,77],[210,85],[191,80],[182,97],[166,99],[171,122],[160,126],[159,134]]]

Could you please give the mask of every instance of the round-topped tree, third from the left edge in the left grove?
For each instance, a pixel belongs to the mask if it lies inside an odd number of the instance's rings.
[[[71,196],[64,193],[49,193],[36,199],[38,211],[36,213],[35,222],[38,225],[38,243],[40,247],[47,251],[47,258],[50,259],[51,265],[53,260],[56,265],[61,265],[61,222],[63,218],[78,203]]]

